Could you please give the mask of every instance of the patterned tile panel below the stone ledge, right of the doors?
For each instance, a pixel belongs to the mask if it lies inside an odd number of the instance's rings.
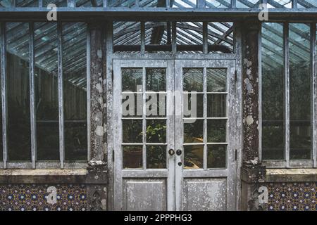
[[[266,210],[317,210],[317,182],[269,183]]]

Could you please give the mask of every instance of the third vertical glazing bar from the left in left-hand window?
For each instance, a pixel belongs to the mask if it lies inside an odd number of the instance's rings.
[[[63,112],[63,48],[62,23],[57,23],[57,65],[58,65],[58,118],[59,118],[59,160],[64,168],[64,112]]]

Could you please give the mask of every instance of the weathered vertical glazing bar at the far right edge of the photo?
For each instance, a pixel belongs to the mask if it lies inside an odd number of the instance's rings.
[[[316,74],[316,24],[311,24],[311,143],[313,167],[317,167],[317,74]]]

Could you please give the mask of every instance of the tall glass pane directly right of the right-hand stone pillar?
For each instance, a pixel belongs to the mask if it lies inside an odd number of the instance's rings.
[[[262,24],[262,158],[284,159],[283,26]]]

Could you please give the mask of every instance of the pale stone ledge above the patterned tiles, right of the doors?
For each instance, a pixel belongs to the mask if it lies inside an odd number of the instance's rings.
[[[266,182],[316,182],[317,169],[266,169]]]

